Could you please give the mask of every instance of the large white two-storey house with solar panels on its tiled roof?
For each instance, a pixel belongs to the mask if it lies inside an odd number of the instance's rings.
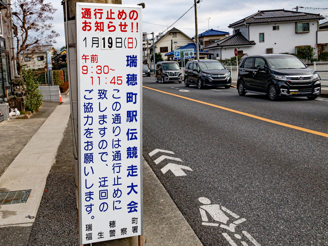
[[[270,53],[297,53],[298,46],[312,46],[316,50],[319,14],[289,10],[262,10],[229,25],[234,34],[205,47],[217,59]],[[321,35],[320,35],[321,37]],[[328,35],[327,35],[328,39]],[[328,41],[327,41],[328,42]]]

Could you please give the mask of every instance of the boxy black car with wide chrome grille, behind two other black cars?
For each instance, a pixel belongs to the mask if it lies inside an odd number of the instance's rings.
[[[157,62],[156,63],[156,83],[158,81],[165,82],[182,82],[181,70],[179,63],[174,61]]]

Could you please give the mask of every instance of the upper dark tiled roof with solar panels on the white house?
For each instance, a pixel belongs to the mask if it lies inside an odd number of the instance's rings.
[[[291,10],[259,10],[257,13],[252,14],[242,20],[230,24],[231,28],[236,24],[241,23],[265,23],[265,22],[279,22],[279,21],[298,21],[298,20],[321,20],[324,19],[319,14],[297,12]]]

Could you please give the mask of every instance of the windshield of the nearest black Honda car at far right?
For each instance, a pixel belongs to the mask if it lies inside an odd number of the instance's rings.
[[[273,56],[266,57],[270,68],[272,69],[296,69],[306,68],[295,56]]]

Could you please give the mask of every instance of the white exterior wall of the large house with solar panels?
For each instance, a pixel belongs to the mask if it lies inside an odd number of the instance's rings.
[[[278,31],[272,30],[275,24],[279,26]],[[310,32],[303,33],[295,32],[295,22],[253,24],[249,27],[249,40],[254,40],[256,45],[251,49],[251,53],[246,53],[249,55],[265,54],[267,48],[273,48],[273,53],[295,53],[295,46],[301,45],[311,45],[316,48],[317,30],[318,21],[310,21]],[[260,32],[264,32],[264,42],[261,43],[259,42]]]

